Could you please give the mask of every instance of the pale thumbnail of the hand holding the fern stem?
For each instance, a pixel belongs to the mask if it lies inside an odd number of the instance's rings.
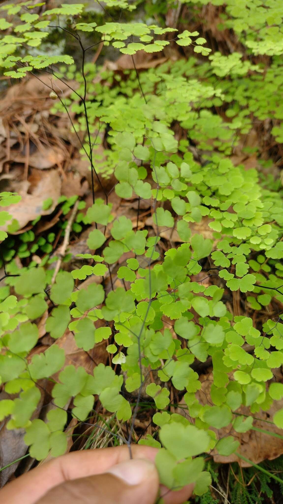
[[[135,459],[111,467],[110,474],[122,479],[127,485],[138,485],[152,475],[155,466],[149,460]]]

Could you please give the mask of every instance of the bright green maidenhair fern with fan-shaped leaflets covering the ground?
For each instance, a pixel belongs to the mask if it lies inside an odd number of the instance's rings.
[[[106,8],[134,8],[124,0],[105,3]],[[212,3],[223,4],[222,0]],[[99,181],[99,174],[114,173],[118,197],[151,199],[156,231],[149,236],[147,230],[136,230],[132,220],[116,218],[111,203],[94,194],[93,205],[76,222],[78,226],[93,225],[87,239],[89,253],[78,255],[91,260],[91,265],[60,271],[53,283],[53,270],[45,267],[44,260],[21,269],[13,261],[7,264],[6,285],[0,288],[0,376],[6,392],[18,397],[1,402],[0,420],[10,416],[8,428],[26,429],[25,443],[37,460],[66,450],[64,407],[72,399],[72,414],[82,422],[92,416],[94,401],[99,400],[119,421],[133,425],[139,404],[126,398],[140,398],[150,373],[153,380],[146,386],[146,394],[155,411],[152,421],[158,436],[148,435],[140,443],[160,448],[156,463],[162,483],[176,487],[194,481],[194,492],[200,495],[211,478],[198,456],[212,449],[229,456],[239,447],[233,435],[218,439],[211,427],[231,425],[236,432],[246,432],[252,428],[252,414],[268,410],[273,400],[283,397],[283,385],[266,387],[272,369],[283,364],[281,314],[275,322],[270,318],[258,328],[252,316],[233,316],[222,300],[226,289],[244,293],[251,310],[261,309],[271,299],[283,302],[281,193],[272,184],[263,187],[255,169],[235,166],[229,157],[238,136],[251,129],[253,116],[272,118],[276,113],[275,117],[282,118],[276,106],[279,94],[272,92],[266,99],[269,93],[264,86],[273,90],[283,83],[276,58],[283,52],[283,11],[271,1],[242,4],[239,9],[238,0],[227,1],[223,23],[234,29],[251,53],[264,51],[275,56],[268,69],[261,63],[251,64],[237,52],[210,54],[196,31],[178,33],[137,22],[113,21],[101,26],[80,22],[81,4],[62,5],[41,16],[34,13],[32,2],[0,8],[7,11],[0,20],[0,65],[5,76],[24,78],[32,73],[40,79],[43,71],[51,74],[53,111],[71,110],[76,114],[75,131],[87,132],[81,153],[89,160],[93,177]],[[127,71],[124,79],[102,71],[101,81],[94,83],[95,65],[83,62],[79,69],[68,55],[29,53],[29,47],[40,49],[60,19],[68,20],[69,32],[83,55],[88,48],[82,44],[81,32],[96,32],[104,45],[111,44],[130,56],[140,50],[159,52],[169,44],[193,47],[195,55],[140,74]],[[59,91],[65,74],[77,81],[68,99]],[[104,86],[107,80],[111,90]],[[227,106],[225,118],[213,110],[222,104]],[[187,136],[178,140],[173,123],[186,130]],[[101,160],[96,148],[99,131],[106,128],[109,149]],[[280,138],[280,125],[274,126],[273,134]],[[199,149],[199,159],[193,157],[192,144]],[[2,193],[0,205],[16,203],[17,198]],[[65,213],[74,203],[63,202]],[[44,208],[49,204],[44,202]],[[5,211],[1,217],[1,225],[11,220]],[[208,223],[213,239],[192,234],[191,223],[203,222]],[[180,245],[163,257],[158,243],[168,229],[175,231]],[[7,238],[5,231],[1,233],[2,240]],[[42,250],[48,254],[52,239],[37,245],[45,246]],[[33,240],[33,235],[22,235],[19,257],[26,257],[25,244]],[[124,254],[126,262],[117,276],[128,282],[127,289],[114,288],[106,295],[96,281],[86,289],[75,289],[75,281],[105,276]],[[196,280],[206,258],[210,261],[207,276],[212,271],[218,276],[214,285]],[[60,338],[68,328],[77,347],[86,352],[103,341],[106,346],[111,338],[106,349],[113,368],[100,363],[91,374],[83,367],[64,367],[64,351],[56,344],[28,361],[39,337],[35,321],[48,306],[46,330],[51,338]],[[164,316],[171,320],[171,329],[164,327]],[[252,352],[247,351],[246,343]],[[196,396],[201,383],[191,364],[208,357],[214,367],[213,404],[203,406]],[[117,365],[120,374],[114,371]],[[55,373],[59,373],[51,392],[55,409],[47,414],[46,422],[31,420],[40,399],[37,382],[44,378],[53,383]],[[184,394],[190,421],[168,408],[169,381]],[[250,408],[247,418],[237,414],[241,405]],[[283,427],[283,410],[277,411],[273,421]]]

